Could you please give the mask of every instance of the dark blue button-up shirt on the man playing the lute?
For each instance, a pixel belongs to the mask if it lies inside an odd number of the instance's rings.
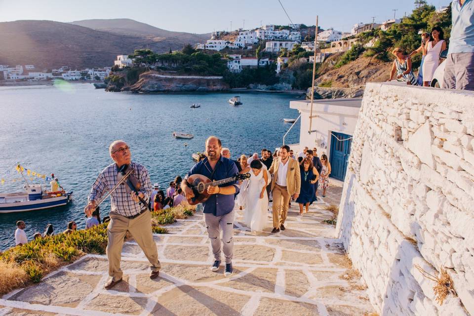
[[[217,162],[216,171],[212,175],[213,171],[211,165],[207,158],[197,162],[194,167],[186,175],[185,179],[188,179],[189,176],[193,174],[201,174],[205,177],[208,177],[211,180],[222,180],[226,178],[230,178],[235,176],[238,173],[237,166],[234,161],[224,158],[221,156],[219,161]],[[229,182],[219,187],[227,187],[233,185],[236,187],[236,194],[239,192],[239,186],[236,181]],[[213,194],[207,199],[204,204],[204,213],[214,214],[214,216],[222,216],[226,215],[234,209],[234,194],[223,195],[223,194]]]

